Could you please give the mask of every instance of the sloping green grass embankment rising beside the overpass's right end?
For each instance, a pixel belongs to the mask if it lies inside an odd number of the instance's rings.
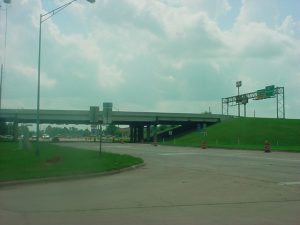
[[[273,150],[300,152],[300,120],[234,118],[165,144],[200,147],[204,140],[208,147],[257,150],[268,140]]]

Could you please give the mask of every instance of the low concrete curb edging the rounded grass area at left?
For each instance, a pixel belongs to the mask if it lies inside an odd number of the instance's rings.
[[[103,177],[103,176],[114,175],[114,174],[122,173],[125,171],[138,169],[143,166],[145,166],[145,163],[136,164],[136,165],[125,167],[125,168],[119,169],[119,170],[112,170],[112,171],[100,172],[100,173],[90,173],[90,174],[82,174],[82,175],[74,175],[74,176],[61,176],[61,177],[34,178],[34,179],[27,179],[27,180],[12,180],[12,181],[3,181],[3,182],[0,181],[0,188],[19,186],[19,185],[61,182],[61,181],[68,181],[68,180],[80,180],[80,179],[88,179],[88,178],[93,178],[93,177]]]

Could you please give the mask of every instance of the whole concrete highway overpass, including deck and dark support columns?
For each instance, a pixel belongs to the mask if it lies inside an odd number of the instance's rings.
[[[6,122],[13,122],[14,127],[17,128],[18,123],[36,123],[37,111],[35,109],[1,109],[0,118]],[[131,142],[150,140],[151,126],[155,128],[154,139],[156,139],[156,127],[160,124],[196,128],[218,123],[228,118],[230,117],[208,113],[113,111],[112,104],[109,107],[104,106],[102,111],[98,106],[91,106],[89,110],[40,110],[40,123],[44,124],[129,125]],[[146,138],[144,138],[144,133],[146,133]]]

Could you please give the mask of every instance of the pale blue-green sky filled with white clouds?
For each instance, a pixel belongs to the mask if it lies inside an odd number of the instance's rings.
[[[34,109],[39,15],[68,1],[0,2],[2,108]],[[299,0],[78,0],[42,30],[42,109],[221,113],[241,80],[241,93],[285,87],[286,117],[300,118]],[[276,117],[276,100],[254,110]]]

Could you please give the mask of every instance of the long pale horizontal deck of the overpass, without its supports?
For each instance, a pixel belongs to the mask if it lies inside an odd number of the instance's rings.
[[[7,122],[35,123],[34,109],[1,109],[0,118]],[[97,123],[103,123],[103,112],[96,113]],[[114,124],[182,124],[182,123],[216,123],[229,118],[219,114],[195,113],[159,113],[159,112],[125,112],[113,111]],[[90,110],[40,110],[40,123],[49,124],[91,124]]]

